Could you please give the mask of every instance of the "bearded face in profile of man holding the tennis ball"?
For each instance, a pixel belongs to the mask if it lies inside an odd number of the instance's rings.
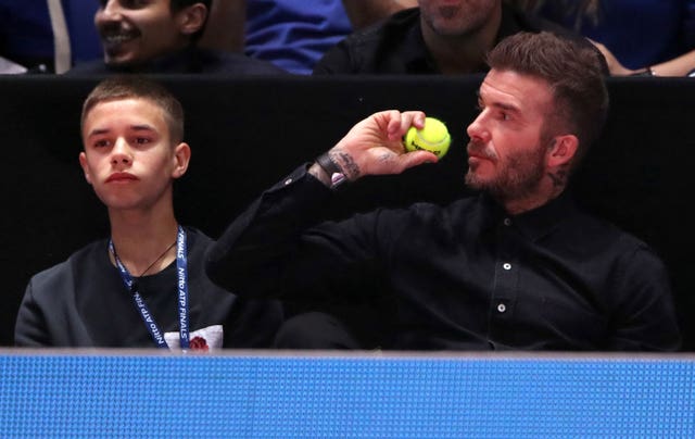
[[[468,126],[466,184],[502,200],[535,193],[546,174],[552,139],[543,129],[553,108],[542,79],[492,70],[479,92],[480,114]]]

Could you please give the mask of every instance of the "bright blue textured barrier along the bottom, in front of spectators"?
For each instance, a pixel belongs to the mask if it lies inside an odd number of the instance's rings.
[[[695,358],[0,350],[0,437],[692,438]]]

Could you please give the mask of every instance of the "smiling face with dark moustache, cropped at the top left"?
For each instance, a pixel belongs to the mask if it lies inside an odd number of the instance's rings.
[[[170,0],[100,0],[94,24],[104,62],[138,65],[189,45],[182,32],[186,9],[173,14]]]

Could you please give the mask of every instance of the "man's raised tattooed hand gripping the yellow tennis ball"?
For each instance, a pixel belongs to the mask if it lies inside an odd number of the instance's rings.
[[[408,167],[438,160],[431,152],[405,151],[405,133],[410,126],[422,128],[424,125],[421,111],[375,113],[352,127],[328,154],[351,181],[364,175],[400,174]],[[330,177],[316,164],[309,172],[324,183]]]

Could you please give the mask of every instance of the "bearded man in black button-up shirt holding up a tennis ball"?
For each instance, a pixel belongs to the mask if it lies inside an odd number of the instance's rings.
[[[661,261],[566,190],[606,117],[604,58],[587,41],[519,33],[488,60],[467,129],[466,184],[479,193],[321,223],[330,187],[437,162],[402,143],[422,112],[379,112],[233,222],[206,256],[211,278],[250,297],[378,279],[374,293],[394,301],[382,348],[678,349]]]

